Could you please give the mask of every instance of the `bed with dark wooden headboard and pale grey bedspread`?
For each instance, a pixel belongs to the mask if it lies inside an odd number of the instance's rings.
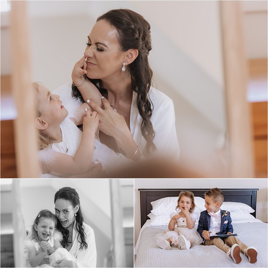
[[[226,204],[245,204],[252,211],[249,220],[240,216],[233,220],[234,233],[247,246],[258,250],[258,260],[250,264],[247,257],[240,253],[242,261],[235,264],[222,250],[216,246],[194,246],[190,250],[163,250],[156,244],[156,235],[167,230],[167,224],[152,225],[150,219],[151,202],[165,197],[178,197],[180,191],[192,191],[197,198],[204,198],[208,189],[138,189],[141,199],[141,231],[135,246],[135,267],[267,267],[267,223],[255,219],[256,196],[258,189],[222,189]],[[174,199],[173,198],[173,199]],[[237,203],[232,203],[237,202]],[[204,209],[202,209],[204,210]],[[253,211],[254,210],[254,211]],[[231,210],[229,210],[231,211]],[[152,214],[152,213],[151,213]],[[235,213],[233,213],[236,215]],[[239,214],[239,213],[238,213]],[[241,214],[241,213],[240,213]],[[239,215],[240,215],[239,214]],[[245,213],[242,213],[245,214]],[[231,211],[232,217],[232,211]],[[169,218],[170,219],[170,218]],[[197,228],[196,222],[195,228]],[[213,249],[213,250],[212,250]]]

